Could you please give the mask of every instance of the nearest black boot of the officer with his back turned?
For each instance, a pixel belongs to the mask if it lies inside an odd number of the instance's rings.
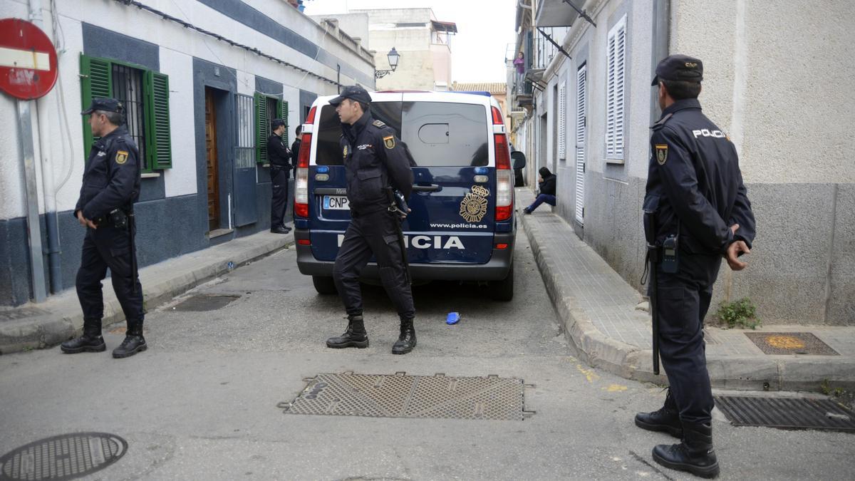
[[[712,447],[712,426],[683,423],[683,442],[657,445],[653,448],[653,460],[701,478],[715,478],[718,476],[718,460]]]

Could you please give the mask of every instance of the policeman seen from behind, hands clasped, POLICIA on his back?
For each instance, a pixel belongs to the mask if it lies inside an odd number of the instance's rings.
[[[702,329],[722,257],[732,270],[746,267],[739,256],[750,251],[755,222],[736,148],[701,112],[703,74],[699,59],[672,55],[659,62],[652,83],[663,111],[652,126],[644,211],[648,243],[675,246],[653,266],[651,288],[669,393],[661,409],[637,414],[635,424],[681,437],[653,448],[657,463],[713,478],[719,467]]]

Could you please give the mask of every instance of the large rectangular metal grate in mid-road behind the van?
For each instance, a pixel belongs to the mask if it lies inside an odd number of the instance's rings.
[[[319,374],[286,413],[522,421],[525,386],[506,377]]]

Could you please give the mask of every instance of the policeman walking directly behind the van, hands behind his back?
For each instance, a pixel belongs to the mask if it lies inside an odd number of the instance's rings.
[[[361,86],[347,86],[330,104],[341,119],[341,152],[347,178],[347,200],[351,223],[339,247],[333,267],[333,281],[347,312],[347,330],[327,340],[327,347],[368,347],[363,324],[363,299],[359,276],[374,255],[380,268],[380,282],[398,310],[400,336],[393,354],[405,354],[416,347],[413,318],[416,309],[404,264],[403,236],[398,215],[389,211],[386,187],[394,187],[410,199],[413,173],[409,157],[395,131],[369,111],[371,97]]]

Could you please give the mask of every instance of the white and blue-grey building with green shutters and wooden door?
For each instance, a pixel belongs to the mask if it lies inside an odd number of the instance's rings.
[[[25,191],[21,131],[0,134],[0,306],[33,298],[26,213],[35,202],[45,288],[74,286],[85,231],[72,211],[91,145],[80,111],[92,97],[121,99],[140,146],[144,266],[269,229],[269,121],[286,119],[290,144],[317,96],[337,93],[339,83],[374,86],[368,50],[282,0],[0,6],[9,17],[41,16],[60,73],[32,103],[35,199]],[[15,99],[0,97],[0,116],[18,125]]]

